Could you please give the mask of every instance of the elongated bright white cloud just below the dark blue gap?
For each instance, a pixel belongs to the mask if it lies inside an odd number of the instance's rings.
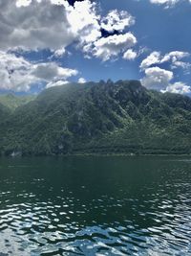
[[[119,53],[123,53],[128,48],[137,43],[137,38],[132,33],[124,35],[110,35],[98,39],[92,50],[96,58],[102,58],[103,61],[111,57],[116,57]]]

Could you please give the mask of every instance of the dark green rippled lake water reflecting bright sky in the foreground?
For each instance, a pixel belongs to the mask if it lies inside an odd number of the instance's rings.
[[[0,255],[191,255],[191,160],[1,158]]]

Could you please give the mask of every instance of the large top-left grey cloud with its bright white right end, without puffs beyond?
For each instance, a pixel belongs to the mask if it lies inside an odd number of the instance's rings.
[[[88,43],[101,36],[96,4],[89,0],[0,0],[0,49],[59,50],[74,41]],[[58,51],[60,54],[60,51]]]

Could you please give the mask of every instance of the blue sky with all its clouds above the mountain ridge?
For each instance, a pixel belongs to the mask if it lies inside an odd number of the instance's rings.
[[[190,94],[191,0],[0,0],[0,92],[140,80]]]

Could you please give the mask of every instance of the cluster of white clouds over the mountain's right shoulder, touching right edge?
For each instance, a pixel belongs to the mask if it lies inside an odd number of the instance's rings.
[[[190,87],[182,81],[172,82],[174,79],[174,69],[190,68],[190,63],[182,61],[182,58],[189,57],[189,53],[173,51],[165,55],[160,52],[152,52],[149,56],[142,59],[140,70],[145,73],[142,84],[151,89],[157,89],[161,92],[189,93]],[[168,63],[169,69],[161,68],[162,64]]]

